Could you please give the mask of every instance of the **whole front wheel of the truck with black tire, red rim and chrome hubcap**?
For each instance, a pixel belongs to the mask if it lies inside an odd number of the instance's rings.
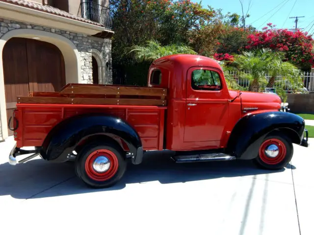
[[[267,136],[259,148],[255,162],[266,169],[281,169],[291,160],[292,142],[280,132]]]

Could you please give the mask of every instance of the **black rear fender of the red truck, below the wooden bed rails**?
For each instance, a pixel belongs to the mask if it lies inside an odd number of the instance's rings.
[[[104,114],[86,114],[67,118],[47,135],[41,156],[53,162],[65,162],[78,143],[95,135],[111,134],[125,141],[133,164],[139,164],[143,148],[137,132],[124,120]]]

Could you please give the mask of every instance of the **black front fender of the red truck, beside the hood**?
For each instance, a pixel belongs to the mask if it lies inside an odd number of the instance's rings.
[[[300,144],[305,121],[298,115],[287,112],[266,112],[241,118],[230,135],[227,151],[238,159],[253,159],[267,134],[278,130],[293,143]]]

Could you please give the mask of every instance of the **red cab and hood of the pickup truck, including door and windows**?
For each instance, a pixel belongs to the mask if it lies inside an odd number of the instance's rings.
[[[229,91],[220,65],[204,56],[158,59],[148,86],[168,89],[166,148],[177,151],[225,148],[240,118],[281,108],[277,94]]]

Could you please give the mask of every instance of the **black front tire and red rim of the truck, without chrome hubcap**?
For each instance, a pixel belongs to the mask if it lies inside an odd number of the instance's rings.
[[[267,145],[268,142],[271,143],[272,140],[275,140],[274,143],[276,142],[276,140],[278,141],[279,149],[285,148],[285,150],[282,151],[283,153],[285,153],[286,151],[286,153],[280,156],[280,158],[278,158],[277,161],[275,158],[268,158],[269,159],[268,160],[266,157],[265,159],[265,156],[267,155],[262,153],[263,143]],[[263,143],[260,146],[258,156],[253,160],[259,167],[264,168],[264,169],[269,169],[269,170],[278,170],[278,169],[284,168],[291,161],[291,158],[293,156],[293,145],[292,145],[291,140],[287,136],[279,132],[273,133],[265,137],[265,139],[263,140]],[[282,146],[282,144],[284,146]],[[270,162],[271,164],[269,164]]]

